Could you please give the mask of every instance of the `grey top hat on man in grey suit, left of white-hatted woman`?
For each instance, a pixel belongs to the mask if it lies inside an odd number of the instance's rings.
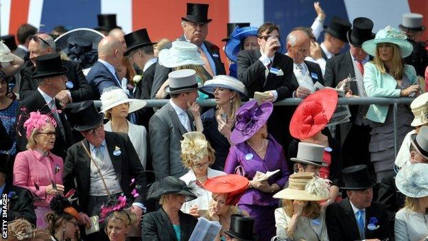
[[[196,71],[193,69],[180,69],[168,74],[169,86],[165,88],[165,93],[184,93],[197,91],[202,88],[202,84],[196,80]]]

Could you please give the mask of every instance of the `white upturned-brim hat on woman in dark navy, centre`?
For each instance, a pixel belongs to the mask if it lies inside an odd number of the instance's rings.
[[[214,76],[212,80],[206,80],[204,82],[204,87],[202,87],[201,91],[213,94],[214,89],[217,87],[237,91],[239,94],[241,94],[241,97],[247,97],[245,85],[241,81],[237,80],[237,78],[233,78],[232,76]]]

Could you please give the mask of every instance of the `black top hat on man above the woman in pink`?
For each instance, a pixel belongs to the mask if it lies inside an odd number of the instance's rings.
[[[36,59],[36,71],[33,78],[47,78],[52,76],[62,76],[69,69],[62,65],[60,54],[45,54]]]

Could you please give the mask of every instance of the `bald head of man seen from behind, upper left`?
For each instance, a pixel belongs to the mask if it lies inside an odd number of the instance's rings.
[[[98,44],[98,58],[114,67],[119,66],[123,58],[121,43],[112,36],[104,37]]]

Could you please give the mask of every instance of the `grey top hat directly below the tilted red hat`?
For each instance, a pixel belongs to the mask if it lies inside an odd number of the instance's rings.
[[[329,165],[322,161],[323,154],[324,146],[306,142],[299,142],[297,157],[292,157],[290,160],[294,162],[315,165],[317,167],[327,167]]]

